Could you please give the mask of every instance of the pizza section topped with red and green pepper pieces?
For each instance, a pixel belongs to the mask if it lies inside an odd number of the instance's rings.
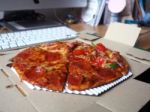
[[[95,47],[97,51],[96,57],[92,60],[95,67],[109,68],[116,74],[126,75],[129,72],[129,64],[119,52],[106,48],[103,44],[98,43]]]

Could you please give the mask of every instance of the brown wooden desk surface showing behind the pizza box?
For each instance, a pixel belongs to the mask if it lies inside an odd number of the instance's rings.
[[[76,31],[82,31],[82,30],[95,31],[102,37],[105,35],[107,30],[107,26],[105,25],[99,25],[98,27],[91,27],[90,25],[84,23],[72,24],[70,25],[70,27]],[[150,51],[150,28],[149,27],[142,28],[138,40],[135,44],[135,47]]]

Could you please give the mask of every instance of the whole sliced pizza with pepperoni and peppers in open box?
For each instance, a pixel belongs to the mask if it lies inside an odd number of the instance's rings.
[[[129,72],[120,53],[102,43],[43,43],[19,52],[12,61],[21,80],[54,91],[98,87]]]

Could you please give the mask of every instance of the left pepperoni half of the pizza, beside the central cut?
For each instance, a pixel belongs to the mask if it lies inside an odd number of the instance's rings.
[[[13,58],[12,67],[21,80],[55,91],[63,91],[67,77],[67,61],[61,52],[31,47]]]

